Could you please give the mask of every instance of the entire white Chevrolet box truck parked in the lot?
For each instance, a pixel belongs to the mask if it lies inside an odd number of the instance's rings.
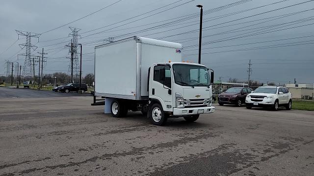
[[[144,37],[96,46],[94,95],[105,98],[105,113],[122,117],[141,110],[163,125],[170,117],[195,121],[214,112],[213,72],[182,62],[181,50],[182,44]]]

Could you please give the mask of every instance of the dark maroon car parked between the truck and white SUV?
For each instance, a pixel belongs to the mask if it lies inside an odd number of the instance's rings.
[[[251,93],[251,91],[251,88],[229,88],[218,95],[218,104],[220,106],[223,106],[224,104],[231,104],[239,107],[245,103],[245,97],[248,93]]]

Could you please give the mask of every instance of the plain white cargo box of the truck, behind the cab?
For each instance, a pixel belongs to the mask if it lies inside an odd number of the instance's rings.
[[[95,47],[95,95],[148,99],[148,69],[154,63],[181,62],[182,44],[133,37]]]

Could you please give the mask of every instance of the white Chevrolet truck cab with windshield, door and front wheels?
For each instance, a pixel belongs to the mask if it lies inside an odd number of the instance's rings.
[[[195,63],[157,63],[149,69],[148,117],[162,125],[169,117],[195,121],[201,113],[214,112],[209,69]]]

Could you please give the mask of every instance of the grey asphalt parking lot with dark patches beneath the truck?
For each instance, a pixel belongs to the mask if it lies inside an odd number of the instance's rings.
[[[138,112],[104,114],[91,96],[16,98],[16,91],[0,96],[0,176],[314,173],[313,111],[215,105],[194,123],[159,127]]]

